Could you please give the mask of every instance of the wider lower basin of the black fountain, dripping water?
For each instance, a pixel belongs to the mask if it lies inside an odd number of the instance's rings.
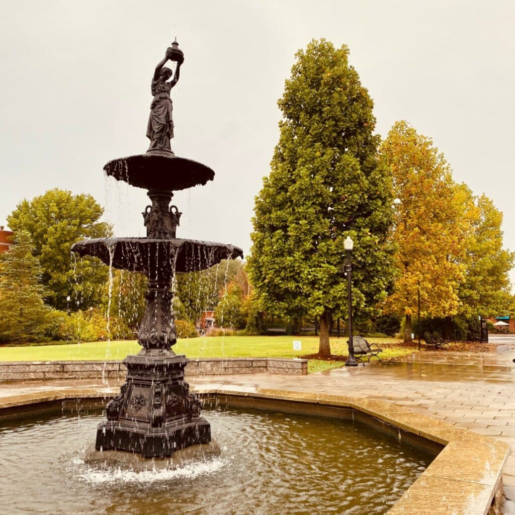
[[[72,245],[72,250],[80,256],[96,256],[114,268],[147,274],[165,269],[195,272],[224,259],[243,258],[242,249],[233,245],[180,238],[84,239]]]

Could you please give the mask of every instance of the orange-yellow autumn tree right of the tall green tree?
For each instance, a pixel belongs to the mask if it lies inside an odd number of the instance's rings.
[[[381,159],[391,168],[396,199],[391,237],[397,246],[397,280],[386,306],[405,317],[404,340],[409,342],[419,288],[421,316],[458,312],[473,202],[466,188],[453,182],[432,140],[405,121],[391,128]]]

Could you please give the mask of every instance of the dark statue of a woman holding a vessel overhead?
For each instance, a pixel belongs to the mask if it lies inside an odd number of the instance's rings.
[[[165,67],[168,59],[170,61],[177,61],[175,75],[170,68]],[[170,90],[179,80],[183,61],[182,51],[179,50],[177,42],[174,42],[166,50],[164,59],[156,66],[151,88],[154,98],[152,104],[150,104],[150,116],[148,117],[147,125],[147,138],[150,140],[148,150],[162,149],[171,151],[170,139],[174,137],[174,121],[171,116],[173,107],[171,105]],[[168,81],[172,75],[174,78]]]

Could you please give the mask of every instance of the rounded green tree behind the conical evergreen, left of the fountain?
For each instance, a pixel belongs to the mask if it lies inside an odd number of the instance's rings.
[[[70,248],[83,238],[111,235],[111,226],[98,221],[103,212],[91,195],[73,195],[55,188],[32,200],[22,200],[7,217],[14,233],[27,231],[32,238],[48,304],[63,309],[68,295],[73,298],[71,308],[100,302],[108,268],[89,256],[75,260]]]

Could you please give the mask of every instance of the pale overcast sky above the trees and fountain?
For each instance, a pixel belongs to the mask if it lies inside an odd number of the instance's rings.
[[[514,24],[508,0],[4,0],[0,225],[21,199],[58,186],[92,194],[117,235],[145,235],[146,192],[106,182],[102,167],[148,148],[150,81],[176,34],[185,62],[172,148],[216,174],[176,193],[178,237],[248,253],[277,99],[297,49],[324,37],[350,47],[377,132],[406,119],[430,136],[454,179],[503,211],[514,250]]]

